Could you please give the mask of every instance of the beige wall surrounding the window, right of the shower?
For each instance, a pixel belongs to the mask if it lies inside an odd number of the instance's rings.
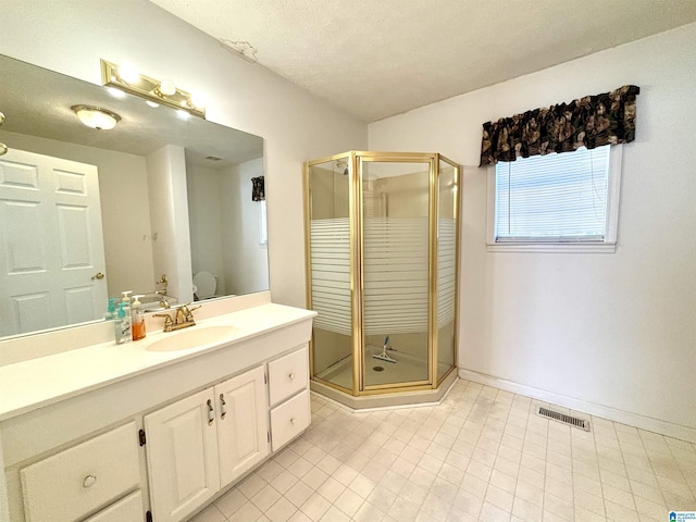
[[[696,439],[696,408],[684,402],[696,396],[695,55],[691,24],[370,125],[371,149],[477,165],[484,122],[641,87],[616,253],[488,252],[486,171],[464,170],[467,375]]]

